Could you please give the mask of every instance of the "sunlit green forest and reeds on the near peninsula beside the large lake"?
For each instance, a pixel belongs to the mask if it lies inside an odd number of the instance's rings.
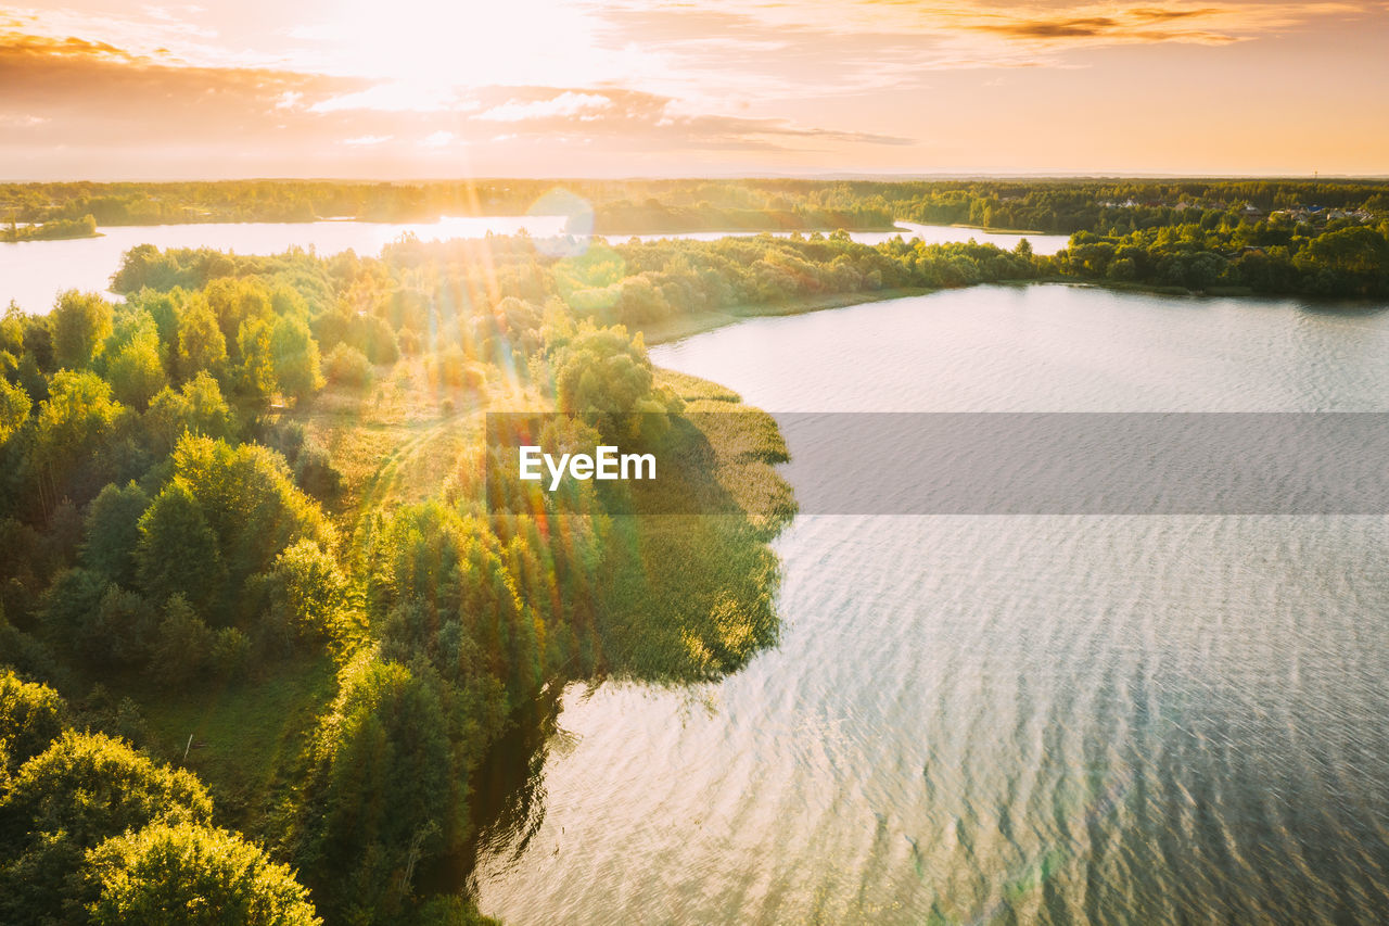
[[[646,338],[981,282],[1389,293],[1382,216],[1182,217],[1056,256],[842,231],[568,256],[525,235],[375,257],[140,246],[122,302],[11,307],[0,920],[485,922],[449,872],[518,717],[568,681],[717,679],[778,635],[781,435],[654,368]],[[626,438],[731,507],[488,489],[504,448],[483,416],[518,409],[574,416],[551,442],[656,421]]]

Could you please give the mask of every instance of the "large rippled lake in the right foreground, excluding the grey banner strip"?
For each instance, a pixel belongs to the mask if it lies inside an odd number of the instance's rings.
[[[982,286],[653,355],[770,410],[1389,407],[1389,313],[1295,302]],[[1383,922],[1385,519],[821,516],[776,549],[778,649],[564,692],[483,912]]]

